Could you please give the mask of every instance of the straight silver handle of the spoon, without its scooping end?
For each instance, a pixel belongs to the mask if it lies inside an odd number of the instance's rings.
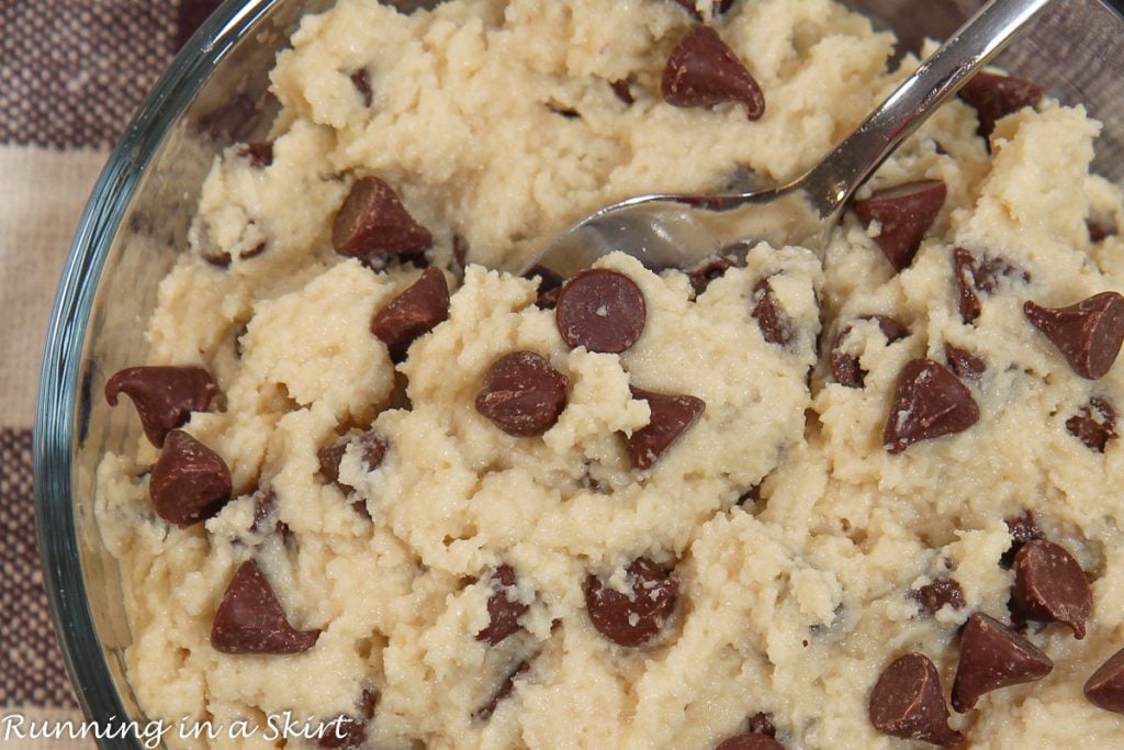
[[[952,97],[1050,0],[990,0],[907,78],[867,120],[801,182],[824,217],[855,189],[930,114]]]

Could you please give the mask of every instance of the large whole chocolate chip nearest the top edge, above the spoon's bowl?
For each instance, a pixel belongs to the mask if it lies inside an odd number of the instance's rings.
[[[738,101],[745,105],[745,116],[751,120],[765,112],[761,87],[709,26],[694,27],[672,49],[660,89],[664,101],[674,107]]]

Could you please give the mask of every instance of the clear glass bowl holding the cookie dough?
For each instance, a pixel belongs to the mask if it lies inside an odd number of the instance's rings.
[[[655,1],[655,0],[652,0]],[[191,38],[126,130],[82,216],[47,333],[35,424],[38,542],[55,629],[85,716],[143,721],[126,679],[130,642],[120,576],[97,527],[96,469],[138,431],[101,397],[112,372],[145,360],[160,280],[187,249],[212,157],[265,135],[269,70],[300,17],[332,0],[228,0]],[[396,0],[404,11],[433,4]],[[981,0],[847,0],[894,29],[903,51],[942,37]],[[1124,0],[1051,6],[998,64],[1105,124],[1095,168],[1124,179]],[[135,739],[105,747],[140,747]]]

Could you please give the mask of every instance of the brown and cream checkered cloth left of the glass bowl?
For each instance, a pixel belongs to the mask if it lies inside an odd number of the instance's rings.
[[[109,150],[219,0],[0,0],[0,720],[81,721],[47,612],[31,423],[47,317]],[[20,748],[92,741],[6,741]]]

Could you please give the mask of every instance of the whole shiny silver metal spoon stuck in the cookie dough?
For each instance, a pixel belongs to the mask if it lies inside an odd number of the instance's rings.
[[[732,195],[628,198],[558,236],[523,272],[566,278],[613,251],[660,271],[692,268],[738,243],[823,249],[855,189],[1048,2],[990,0],[804,177]]]

